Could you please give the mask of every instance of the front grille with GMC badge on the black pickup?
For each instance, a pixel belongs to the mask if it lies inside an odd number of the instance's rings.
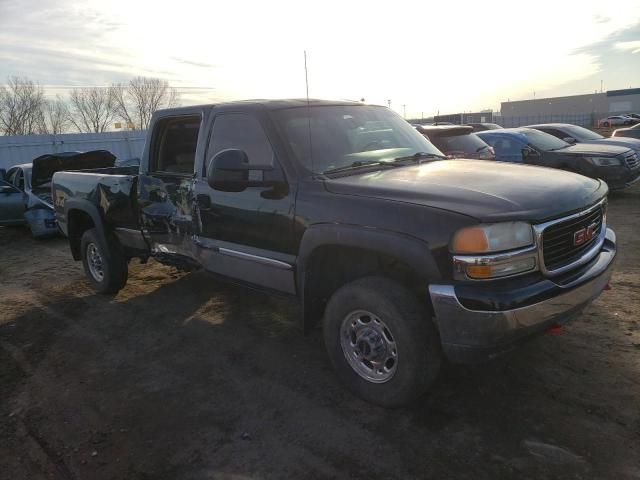
[[[547,270],[556,270],[578,260],[598,241],[602,231],[605,205],[599,205],[585,215],[560,221],[542,232],[542,256]],[[576,232],[595,225],[593,237],[580,245],[574,244]]]

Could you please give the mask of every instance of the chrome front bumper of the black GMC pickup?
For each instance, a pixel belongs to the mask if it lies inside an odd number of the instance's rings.
[[[544,300],[506,310],[472,310],[462,305],[453,285],[430,285],[442,347],[455,363],[474,363],[493,358],[520,342],[564,324],[596,299],[609,283],[616,256],[616,236],[607,229],[604,244],[579,275],[563,283],[551,283],[554,295]],[[504,297],[504,292],[501,293]]]

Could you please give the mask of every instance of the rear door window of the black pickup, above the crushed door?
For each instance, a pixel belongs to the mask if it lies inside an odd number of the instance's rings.
[[[171,117],[155,127],[151,171],[193,174],[200,117]]]

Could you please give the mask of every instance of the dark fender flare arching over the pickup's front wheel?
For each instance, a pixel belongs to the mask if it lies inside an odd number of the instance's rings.
[[[317,320],[314,317],[319,315],[319,312],[310,311],[310,302],[305,301],[307,265],[317,248],[329,245],[356,247],[391,255],[430,281],[442,279],[442,273],[433,258],[429,244],[423,240],[402,233],[358,225],[313,225],[307,228],[302,236],[296,261],[296,289],[303,306],[302,323],[305,332],[308,332]]]

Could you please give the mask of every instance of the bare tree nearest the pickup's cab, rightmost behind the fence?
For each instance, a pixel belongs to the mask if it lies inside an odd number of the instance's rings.
[[[111,93],[118,116],[140,130],[149,126],[153,112],[178,103],[176,89],[159,78],[136,77],[127,84],[112,85]]]

